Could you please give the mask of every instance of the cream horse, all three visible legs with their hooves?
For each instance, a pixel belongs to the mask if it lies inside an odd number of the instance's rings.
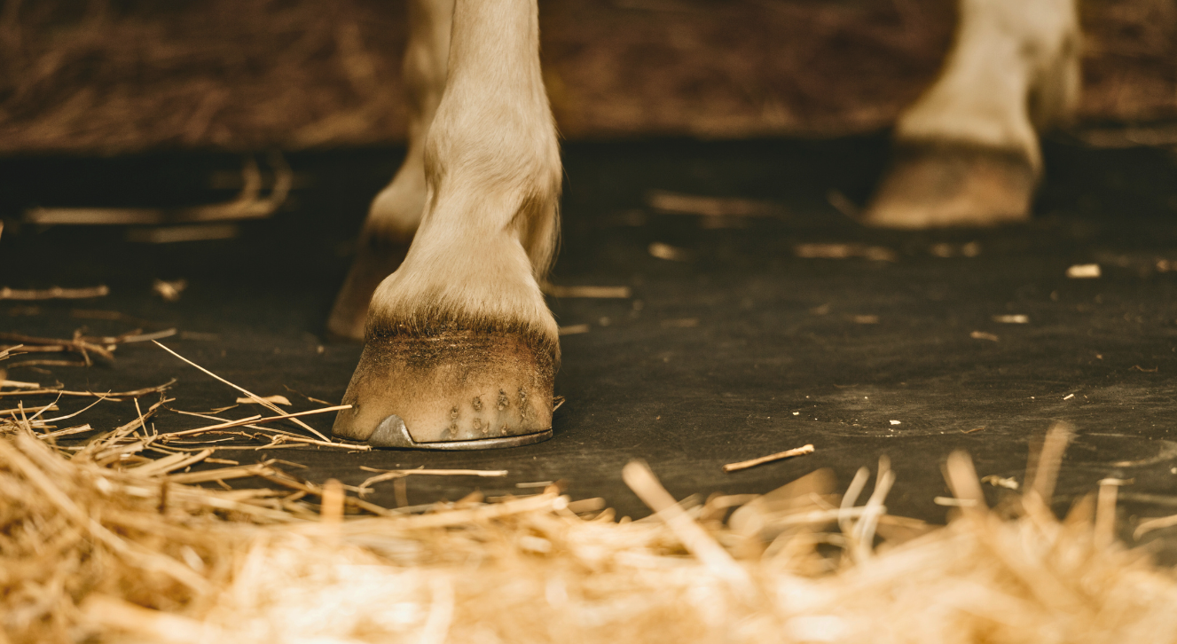
[[[940,74],[896,124],[866,225],[1030,217],[1038,132],[1079,98],[1076,2],[959,0],[958,15]],[[327,324],[365,341],[332,431],[373,447],[544,440],[560,346],[540,284],[563,171],[537,0],[411,0],[408,22],[408,151]]]

